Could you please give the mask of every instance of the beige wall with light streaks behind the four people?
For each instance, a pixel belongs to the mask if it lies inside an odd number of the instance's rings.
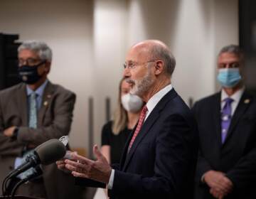
[[[105,97],[113,111],[125,53],[137,41],[170,46],[177,60],[172,83],[186,102],[215,92],[215,56],[238,43],[238,0],[1,0],[0,31],[53,48],[50,80],[78,96],[71,144],[87,147],[88,97],[95,99],[100,144]]]

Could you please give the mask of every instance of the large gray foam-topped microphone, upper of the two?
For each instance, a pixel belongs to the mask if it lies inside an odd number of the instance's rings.
[[[65,145],[58,139],[50,139],[36,147],[33,154],[26,157],[26,162],[18,166],[14,171],[11,171],[7,178],[14,178],[18,174],[35,167],[38,164],[48,165],[65,156]]]

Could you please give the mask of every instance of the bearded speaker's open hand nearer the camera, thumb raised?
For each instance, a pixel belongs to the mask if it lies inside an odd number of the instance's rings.
[[[107,184],[110,181],[112,168],[105,156],[100,153],[97,145],[93,147],[93,153],[97,158],[96,161],[79,156],[78,154],[71,154],[73,160],[66,159],[64,161],[65,168],[72,171],[75,177],[90,178]]]

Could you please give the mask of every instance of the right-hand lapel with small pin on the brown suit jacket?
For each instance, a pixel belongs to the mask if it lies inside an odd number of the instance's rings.
[[[46,85],[45,90],[43,91],[43,99],[41,108],[38,111],[38,127],[41,127],[43,125],[43,119],[45,117],[46,110],[49,107],[50,101],[53,97],[54,92],[54,86],[50,81]]]

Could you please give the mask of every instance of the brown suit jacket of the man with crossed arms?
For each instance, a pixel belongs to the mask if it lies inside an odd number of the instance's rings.
[[[44,141],[68,135],[73,118],[75,94],[48,82],[38,111],[38,128],[28,127],[26,85],[21,83],[0,92],[0,183],[14,169],[26,144],[38,146]],[[17,140],[4,136],[4,129],[19,127]],[[43,168],[43,181],[48,198],[68,198],[73,179],[59,171],[55,163]],[[70,183],[70,184],[68,184]],[[22,192],[21,192],[22,193]],[[28,190],[25,195],[33,196]],[[37,195],[35,195],[37,196]],[[38,193],[38,196],[41,196]]]

